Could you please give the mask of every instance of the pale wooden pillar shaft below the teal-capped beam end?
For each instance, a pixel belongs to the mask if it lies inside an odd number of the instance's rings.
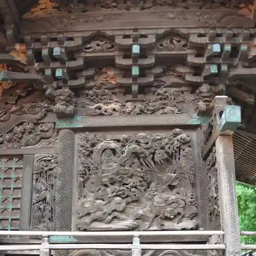
[[[232,135],[218,136],[216,139],[216,158],[221,225],[225,232],[225,255],[238,256],[241,255],[241,248]]]

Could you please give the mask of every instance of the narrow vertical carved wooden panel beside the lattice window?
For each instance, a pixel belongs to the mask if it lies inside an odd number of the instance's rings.
[[[31,230],[54,231],[57,155],[35,155]]]

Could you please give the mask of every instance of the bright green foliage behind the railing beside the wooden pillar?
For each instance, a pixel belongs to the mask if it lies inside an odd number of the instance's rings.
[[[241,231],[256,231],[256,190],[237,183],[238,209]],[[256,244],[256,236],[241,237],[243,244]]]

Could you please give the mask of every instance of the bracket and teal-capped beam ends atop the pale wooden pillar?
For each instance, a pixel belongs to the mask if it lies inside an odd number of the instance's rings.
[[[208,123],[203,159],[214,145],[219,135],[232,135],[241,123],[241,107],[228,105],[227,96],[216,96],[212,101],[212,119]]]

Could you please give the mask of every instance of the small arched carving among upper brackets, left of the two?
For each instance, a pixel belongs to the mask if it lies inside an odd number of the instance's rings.
[[[115,42],[103,37],[94,38],[84,45],[85,52],[114,52],[115,50]]]

